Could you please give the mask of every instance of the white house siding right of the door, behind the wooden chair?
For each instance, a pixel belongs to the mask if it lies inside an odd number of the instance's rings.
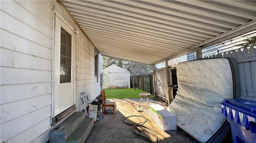
[[[101,72],[102,67],[99,68],[98,72]],[[89,102],[92,102],[100,95],[101,88],[100,77],[97,82],[97,77],[94,75],[94,46],[81,33],[76,34],[76,69],[79,71],[79,76],[76,78],[76,107],[83,110],[80,93],[86,92]]]

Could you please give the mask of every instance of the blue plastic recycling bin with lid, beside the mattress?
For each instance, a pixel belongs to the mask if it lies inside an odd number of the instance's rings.
[[[224,100],[220,106],[231,125],[233,143],[256,143],[256,101]]]

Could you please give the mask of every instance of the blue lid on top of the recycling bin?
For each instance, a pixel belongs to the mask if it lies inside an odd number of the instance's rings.
[[[250,112],[256,112],[256,101],[254,100],[245,100],[245,99],[224,99],[226,104],[230,104],[230,106],[236,105],[240,106]]]

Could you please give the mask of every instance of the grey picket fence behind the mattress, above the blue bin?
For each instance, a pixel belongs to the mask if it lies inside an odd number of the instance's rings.
[[[256,100],[256,49],[252,46],[250,49],[228,51],[216,56],[209,57],[232,57],[238,63],[241,84],[241,98],[247,100]]]

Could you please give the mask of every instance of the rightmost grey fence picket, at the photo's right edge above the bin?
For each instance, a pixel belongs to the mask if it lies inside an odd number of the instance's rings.
[[[252,46],[249,50],[250,57],[256,57],[256,49]],[[256,97],[256,61],[250,61],[253,97]]]

